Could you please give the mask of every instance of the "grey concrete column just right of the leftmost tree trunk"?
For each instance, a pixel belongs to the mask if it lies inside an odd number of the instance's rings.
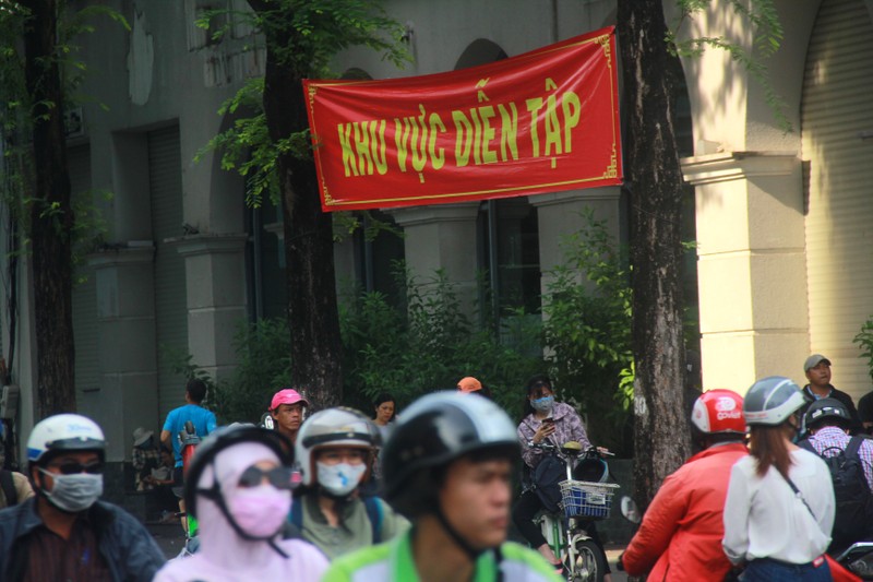
[[[131,246],[132,245],[132,246]],[[82,413],[103,427],[107,460],[122,461],[131,430],[158,427],[152,241],[93,254],[97,286],[99,388],[86,390]]]

